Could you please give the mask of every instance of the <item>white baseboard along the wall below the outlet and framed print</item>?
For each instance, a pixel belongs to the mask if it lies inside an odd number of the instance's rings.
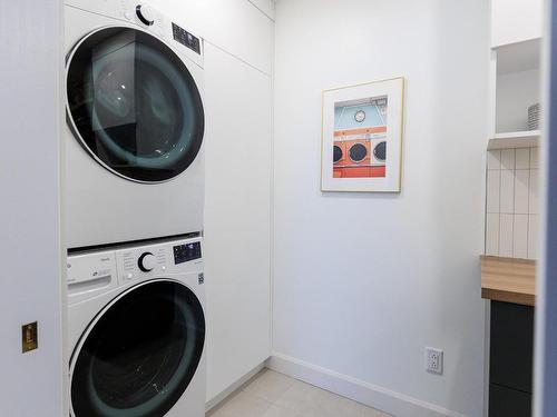
[[[282,354],[274,353],[266,367],[397,417],[468,417]]]

